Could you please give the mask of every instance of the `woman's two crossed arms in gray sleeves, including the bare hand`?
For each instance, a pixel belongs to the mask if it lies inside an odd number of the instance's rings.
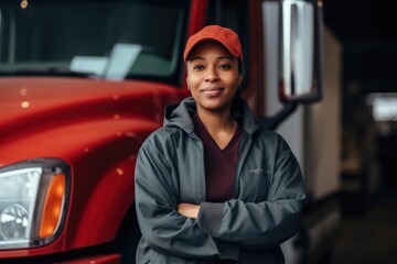
[[[270,248],[290,238],[299,226],[303,183],[290,151],[283,150],[278,156],[275,180],[268,190],[270,199],[193,205],[179,204],[174,189],[167,188],[174,183],[162,153],[154,147],[141,148],[136,205],[146,241],[152,249],[174,256],[235,260],[240,248]]]

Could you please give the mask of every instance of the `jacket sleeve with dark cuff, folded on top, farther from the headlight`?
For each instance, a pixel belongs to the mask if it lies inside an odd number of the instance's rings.
[[[276,150],[267,199],[202,202],[197,222],[206,233],[247,249],[271,248],[297,233],[305,200],[304,184],[298,161],[281,136]]]

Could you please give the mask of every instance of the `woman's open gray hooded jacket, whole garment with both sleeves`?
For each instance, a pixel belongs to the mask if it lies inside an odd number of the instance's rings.
[[[305,200],[299,164],[288,144],[262,128],[244,102],[244,132],[234,198],[205,202],[203,144],[194,132],[192,98],[165,109],[164,127],[142,144],[136,166],[136,209],[142,239],[137,263],[283,263],[279,244],[300,226]],[[201,205],[197,220],[180,202]]]

